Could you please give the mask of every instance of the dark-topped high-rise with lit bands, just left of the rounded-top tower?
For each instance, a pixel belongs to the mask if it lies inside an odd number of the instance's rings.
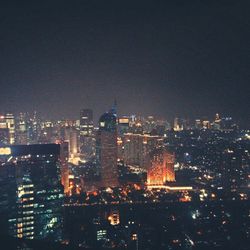
[[[86,161],[95,155],[94,122],[91,109],[82,109],[80,112],[80,152]]]

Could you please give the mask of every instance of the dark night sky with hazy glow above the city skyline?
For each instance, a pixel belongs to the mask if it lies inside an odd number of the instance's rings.
[[[248,1],[37,2],[0,6],[1,110],[250,120]]]

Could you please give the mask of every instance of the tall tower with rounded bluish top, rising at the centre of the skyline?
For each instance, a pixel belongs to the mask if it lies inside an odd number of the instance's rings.
[[[117,121],[112,112],[103,114],[99,119],[96,157],[102,187],[118,186]]]

